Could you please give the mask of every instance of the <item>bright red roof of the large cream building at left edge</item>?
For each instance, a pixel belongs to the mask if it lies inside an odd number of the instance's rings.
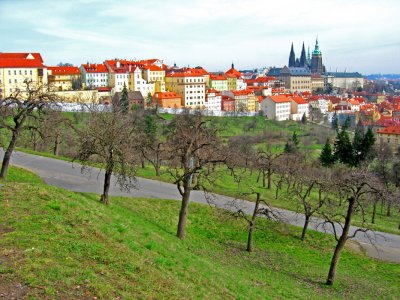
[[[0,68],[44,68],[40,53],[0,53]]]

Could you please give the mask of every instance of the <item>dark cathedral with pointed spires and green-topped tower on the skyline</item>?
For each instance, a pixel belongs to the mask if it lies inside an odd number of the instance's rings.
[[[306,55],[306,49],[304,47],[301,49],[300,59],[296,58],[293,49],[290,50],[289,55],[289,68],[306,68],[311,71],[313,74],[322,74],[325,73],[325,66],[322,64],[322,53],[319,50],[318,38],[315,41],[315,48],[312,52],[312,56],[310,56],[310,47],[308,48],[308,53]]]

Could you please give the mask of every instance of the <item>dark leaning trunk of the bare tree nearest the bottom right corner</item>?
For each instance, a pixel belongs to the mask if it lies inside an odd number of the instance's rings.
[[[340,254],[344,248],[344,245],[346,244],[347,236],[349,235],[351,218],[353,216],[355,205],[356,205],[356,200],[354,199],[354,197],[351,197],[349,199],[349,206],[347,208],[347,214],[343,227],[343,232],[339,238],[338,243],[336,244],[335,252],[333,253],[331,266],[329,268],[329,273],[328,273],[328,279],[326,281],[327,285],[333,285],[333,282],[335,281],[337,265],[339,263]]]

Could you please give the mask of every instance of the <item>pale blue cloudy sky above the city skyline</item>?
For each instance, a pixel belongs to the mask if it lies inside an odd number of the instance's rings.
[[[400,73],[399,0],[0,0],[0,52],[46,65],[159,58],[226,71],[282,67],[292,42],[327,70]]]

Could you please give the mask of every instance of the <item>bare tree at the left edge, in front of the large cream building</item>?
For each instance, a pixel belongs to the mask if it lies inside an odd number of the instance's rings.
[[[0,99],[0,128],[11,133],[10,142],[4,153],[0,178],[5,179],[7,176],[11,154],[21,133],[24,130],[36,130],[36,125],[40,122],[32,120],[41,120],[46,110],[55,107],[57,100],[58,97],[51,92],[48,86],[29,80],[24,81],[21,89]]]

